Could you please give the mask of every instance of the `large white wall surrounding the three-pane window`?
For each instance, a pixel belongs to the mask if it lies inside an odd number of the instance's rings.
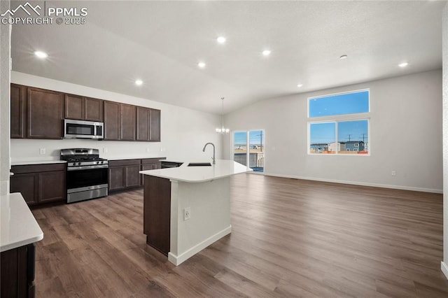
[[[371,156],[308,155],[307,97],[370,88]],[[265,129],[265,173],[442,192],[442,71],[267,99],[225,116],[234,130]],[[232,136],[224,157],[231,158]],[[396,176],[391,176],[391,171]]]

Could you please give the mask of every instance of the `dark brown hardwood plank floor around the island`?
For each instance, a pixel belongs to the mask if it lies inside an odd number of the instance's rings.
[[[441,194],[242,174],[232,234],[179,267],[143,190],[33,213],[36,297],[448,297]]]

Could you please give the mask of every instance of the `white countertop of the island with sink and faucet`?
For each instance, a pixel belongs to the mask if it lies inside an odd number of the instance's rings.
[[[242,164],[227,159],[217,159],[216,164],[212,166],[188,166],[189,163],[184,162],[177,168],[140,171],[140,173],[170,180],[200,183],[252,171]]]

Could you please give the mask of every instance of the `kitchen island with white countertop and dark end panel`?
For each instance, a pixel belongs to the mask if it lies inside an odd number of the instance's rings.
[[[232,160],[202,164],[140,172],[146,243],[176,266],[232,232],[230,176],[252,171]]]

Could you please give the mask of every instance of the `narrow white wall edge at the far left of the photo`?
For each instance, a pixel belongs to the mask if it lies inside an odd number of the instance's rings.
[[[9,8],[9,1],[0,1],[0,11]],[[0,195],[9,193],[10,151],[10,25],[0,25]]]

